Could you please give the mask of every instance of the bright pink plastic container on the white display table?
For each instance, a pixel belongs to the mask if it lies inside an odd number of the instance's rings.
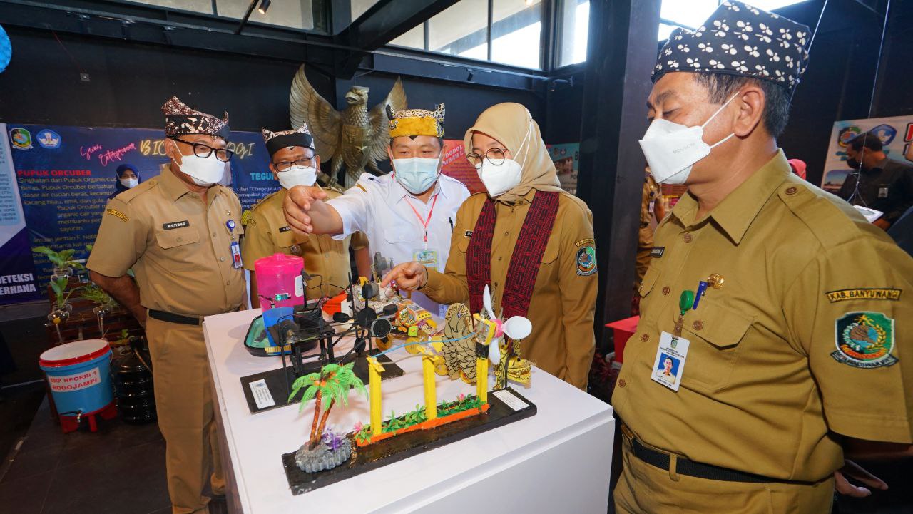
[[[254,263],[257,273],[257,294],[260,308],[293,307],[304,303],[304,281],[301,270],[304,259],[298,256],[273,254],[258,258]]]

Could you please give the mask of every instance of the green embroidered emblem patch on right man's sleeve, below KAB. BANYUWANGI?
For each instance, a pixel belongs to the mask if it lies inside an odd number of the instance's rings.
[[[897,363],[894,320],[880,312],[847,312],[836,320],[836,362],[856,368],[882,368]]]

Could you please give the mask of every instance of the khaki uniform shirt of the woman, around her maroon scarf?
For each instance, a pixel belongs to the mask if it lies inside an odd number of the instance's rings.
[[[501,310],[510,257],[533,194],[535,190],[515,205],[495,204],[497,219],[491,241],[490,288],[496,314]],[[428,298],[442,304],[461,302],[468,306],[466,252],[487,198],[484,193],[474,194],[456,213],[445,272],[428,268],[428,283],[422,288]],[[593,311],[599,281],[593,248],[593,214],[582,200],[561,193],[555,225],[542,256],[527,312],[532,333],[522,341],[520,351],[523,358],[580,388],[586,387],[595,348]],[[592,267],[578,264],[580,257],[584,257],[584,262],[592,258]]]

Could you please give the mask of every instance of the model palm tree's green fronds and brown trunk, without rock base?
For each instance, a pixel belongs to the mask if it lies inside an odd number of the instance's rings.
[[[330,410],[334,404],[340,402],[343,406],[349,405],[349,389],[354,387],[355,391],[367,396],[367,390],[364,388],[362,379],[355,376],[352,372],[354,362],[348,364],[327,364],[320,369],[320,372],[306,374],[299,377],[291,386],[289,401],[295,397],[299,390],[308,385],[301,396],[299,412],[304,408],[304,404],[314,399],[314,420],[310,424],[309,448],[314,449],[320,443],[320,437],[327,425],[327,418],[330,417]],[[320,413],[323,417],[320,417]]]

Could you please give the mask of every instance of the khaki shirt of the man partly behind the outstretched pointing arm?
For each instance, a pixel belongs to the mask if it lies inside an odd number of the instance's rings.
[[[331,189],[326,192],[329,198],[340,195]],[[241,244],[244,268],[253,272],[257,259],[277,253],[304,257],[305,271],[315,276],[308,282],[306,298],[335,296],[349,285],[352,269],[350,245],[353,249],[360,249],[367,247],[367,241],[361,232],[339,241],[331,236],[295,234],[282,214],[282,202],[286,193],[285,189],[280,189],[269,194],[251,209],[250,215],[245,216],[247,226]]]

